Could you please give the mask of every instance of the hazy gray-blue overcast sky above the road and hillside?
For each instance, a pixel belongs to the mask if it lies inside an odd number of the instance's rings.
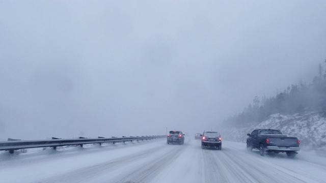
[[[317,75],[325,10],[310,0],[0,0],[0,139],[214,128],[255,96]]]

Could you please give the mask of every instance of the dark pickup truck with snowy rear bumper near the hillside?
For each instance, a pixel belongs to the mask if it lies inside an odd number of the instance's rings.
[[[300,140],[296,137],[287,137],[280,130],[257,129],[247,134],[247,149],[259,149],[259,154],[286,153],[289,158],[294,158],[300,150]]]

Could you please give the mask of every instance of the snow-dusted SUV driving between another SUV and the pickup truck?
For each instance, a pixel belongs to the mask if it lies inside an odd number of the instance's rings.
[[[215,147],[219,150],[222,149],[222,138],[217,131],[204,131],[202,135],[202,148]]]

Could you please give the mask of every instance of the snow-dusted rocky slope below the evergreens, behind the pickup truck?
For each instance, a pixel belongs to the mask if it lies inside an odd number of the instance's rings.
[[[303,149],[314,149],[326,155],[326,117],[322,117],[319,112],[273,114],[267,120],[249,128],[226,128],[221,132],[225,140],[246,142],[247,134],[255,129],[279,129],[285,135],[300,139]]]

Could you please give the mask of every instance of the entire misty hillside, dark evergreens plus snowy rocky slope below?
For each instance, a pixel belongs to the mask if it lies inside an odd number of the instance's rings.
[[[325,60],[326,63],[326,60]],[[255,129],[279,129],[301,140],[304,149],[326,150],[326,72],[319,65],[318,76],[311,83],[292,84],[275,97],[261,100],[242,113],[223,121],[225,140],[246,142],[247,134]]]

